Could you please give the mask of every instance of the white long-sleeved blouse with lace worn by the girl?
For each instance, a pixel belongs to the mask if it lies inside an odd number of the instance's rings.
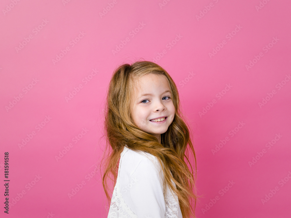
[[[124,146],[108,218],[182,218],[177,195],[167,186],[165,196],[163,182],[155,156]]]

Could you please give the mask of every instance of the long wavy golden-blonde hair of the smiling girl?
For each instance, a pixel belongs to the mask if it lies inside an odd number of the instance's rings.
[[[175,116],[168,130],[161,134],[161,143],[157,138],[138,128],[130,113],[133,80],[146,74],[164,75],[168,79],[172,101],[175,106]],[[106,149],[100,164],[104,167],[102,185],[110,204],[108,179],[115,186],[120,154],[125,144],[129,149],[145,151],[157,157],[164,173],[164,185],[177,194],[184,218],[195,217],[196,207],[196,156],[190,139],[186,119],[180,109],[180,99],[177,87],[171,76],[159,65],[150,61],[137,61],[132,65],[120,65],[113,73],[104,110],[104,135]],[[192,151],[195,160],[195,179],[193,168],[189,162],[188,149]],[[185,159],[191,167],[187,166]],[[102,164],[104,162],[104,164]],[[162,165],[163,164],[163,165]],[[110,177],[113,175],[113,178]],[[173,176],[172,176],[173,175]],[[175,183],[175,186],[171,183]],[[111,186],[111,187],[113,187]],[[194,190],[193,190],[194,189]],[[194,200],[194,209],[191,207]]]

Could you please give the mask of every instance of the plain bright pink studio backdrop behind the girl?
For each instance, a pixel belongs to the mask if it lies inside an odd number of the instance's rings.
[[[100,172],[113,69],[155,60],[197,155],[197,217],[290,217],[290,1],[0,3],[9,215],[107,217]],[[92,173],[92,174],[91,174]],[[6,178],[7,179],[7,178]],[[142,197],[142,196],[141,196]]]

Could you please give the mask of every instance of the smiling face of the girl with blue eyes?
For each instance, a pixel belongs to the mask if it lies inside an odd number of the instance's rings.
[[[161,143],[161,134],[168,130],[175,116],[166,76],[147,74],[139,81],[135,80],[133,95],[131,114],[134,123]]]

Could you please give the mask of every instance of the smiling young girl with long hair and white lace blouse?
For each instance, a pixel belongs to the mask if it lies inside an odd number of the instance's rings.
[[[177,87],[162,67],[138,61],[115,70],[104,122],[108,218],[194,217],[194,173],[185,162],[186,149],[193,152],[195,175],[196,157],[182,117]],[[114,186],[111,200],[108,178]]]

